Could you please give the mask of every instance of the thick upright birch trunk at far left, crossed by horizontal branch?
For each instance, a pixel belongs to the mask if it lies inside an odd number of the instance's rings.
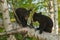
[[[12,24],[10,22],[7,0],[1,0],[1,4],[2,4],[2,14],[3,14],[3,22],[4,22],[3,24],[7,32],[13,29]],[[10,35],[10,37],[7,38],[7,40],[16,40],[16,39],[13,35]]]

